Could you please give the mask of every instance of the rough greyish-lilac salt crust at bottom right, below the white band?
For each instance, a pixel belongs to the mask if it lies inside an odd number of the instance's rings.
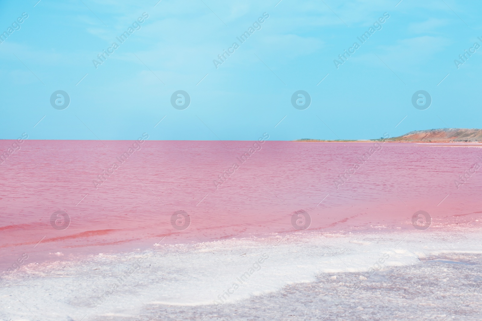
[[[470,264],[449,263],[454,259]],[[327,273],[315,282],[287,285],[276,293],[219,308],[150,305],[136,317],[106,315],[93,320],[478,321],[481,264],[473,255],[442,255],[384,269],[367,280],[358,273]]]

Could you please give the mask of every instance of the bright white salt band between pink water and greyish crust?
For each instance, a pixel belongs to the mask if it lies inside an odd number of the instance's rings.
[[[423,265],[441,255],[457,262],[462,254],[482,254],[481,232],[311,232],[161,243],[148,251],[74,261],[58,256],[3,280],[0,320],[117,320],[162,305],[224,307],[323,275],[335,280],[333,273],[356,272],[365,280],[377,270]]]

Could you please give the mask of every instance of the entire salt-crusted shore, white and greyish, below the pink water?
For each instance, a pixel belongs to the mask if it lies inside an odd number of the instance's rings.
[[[0,320],[480,320],[482,232],[469,227],[53,255],[3,280]]]

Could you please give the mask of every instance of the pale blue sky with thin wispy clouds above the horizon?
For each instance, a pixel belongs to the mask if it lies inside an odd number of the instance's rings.
[[[0,32],[28,14],[0,44],[1,139],[372,139],[482,127],[482,48],[454,62],[482,45],[480,1],[37,1],[0,2]],[[384,13],[381,29],[357,39]],[[56,90],[66,109],[51,105]],[[171,104],[177,90],[190,96],[184,110]],[[292,105],[297,90],[307,109]],[[412,105],[417,90],[430,94],[428,109]]]

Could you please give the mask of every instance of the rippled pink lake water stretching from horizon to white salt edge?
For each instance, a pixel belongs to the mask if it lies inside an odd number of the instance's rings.
[[[12,143],[0,141],[0,150]],[[459,189],[454,183],[478,162],[477,145],[387,142],[336,189],[338,176],[373,143],[266,141],[241,164],[254,142],[145,141],[96,189],[97,175],[133,145],[104,143],[27,140],[0,164],[0,270],[22,253],[31,263],[55,252],[148,248],[164,238],[292,232],[299,210],[311,217],[306,231],[352,232],[413,229],[418,210],[431,215],[431,229],[479,224],[482,211],[482,174]],[[240,167],[216,188],[214,180],[234,163]],[[191,218],[184,231],[171,224],[180,210]],[[69,215],[67,229],[51,226],[55,211]]]

